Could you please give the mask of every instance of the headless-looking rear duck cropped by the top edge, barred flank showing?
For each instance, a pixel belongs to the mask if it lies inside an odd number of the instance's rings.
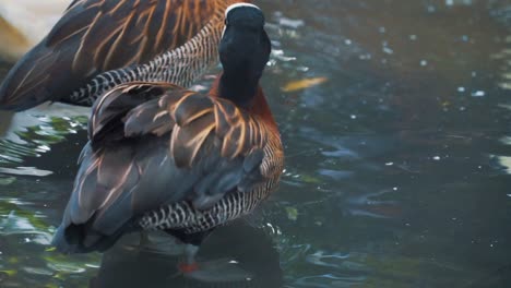
[[[91,107],[122,83],[189,87],[217,63],[223,12],[249,0],[74,0],[0,85],[0,109]]]

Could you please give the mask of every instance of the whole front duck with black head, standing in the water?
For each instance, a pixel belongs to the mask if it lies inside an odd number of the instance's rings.
[[[207,235],[276,190],[284,152],[259,84],[271,52],[264,23],[251,3],[225,10],[222,72],[206,94],[133,82],[96,100],[58,251],[104,252],[123,235],[163,230],[186,244],[180,271],[193,273]]]

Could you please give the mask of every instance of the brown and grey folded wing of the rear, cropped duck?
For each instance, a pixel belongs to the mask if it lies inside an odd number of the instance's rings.
[[[211,20],[214,0],[74,0],[50,33],[10,71],[0,107],[59,100],[102,72],[145,63],[181,46]]]

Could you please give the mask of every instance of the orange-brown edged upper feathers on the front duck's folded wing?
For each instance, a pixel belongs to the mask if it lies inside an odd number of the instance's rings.
[[[121,101],[138,97],[147,99],[151,97],[147,94],[148,89],[157,93],[168,85],[159,88],[150,87],[152,86],[142,85],[139,92],[144,91],[143,94],[130,95],[132,89],[130,91],[129,86],[120,86],[108,93],[109,96],[98,99],[91,120],[92,139],[94,140],[94,135],[106,127],[105,123],[112,118],[111,115],[122,110],[117,108],[122,105],[112,105],[114,98]],[[105,105],[110,108],[103,108]],[[128,113],[124,119],[124,136],[146,133],[162,135],[173,130],[169,143],[170,155],[177,167],[191,167],[207,139],[218,145],[222,157],[227,159],[262,148],[266,140],[264,127],[259,122],[227,100],[182,89],[168,91],[158,99],[144,103]]]

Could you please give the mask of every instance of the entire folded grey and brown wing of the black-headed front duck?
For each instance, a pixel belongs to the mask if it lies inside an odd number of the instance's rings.
[[[168,84],[117,87],[93,108],[91,142],[56,245],[104,250],[165,205],[202,213],[229,193],[271,189],[282,157],[269,157],[277,136],[269,131],[228,100]],[[177,227],[186,228],[186,218]]]

